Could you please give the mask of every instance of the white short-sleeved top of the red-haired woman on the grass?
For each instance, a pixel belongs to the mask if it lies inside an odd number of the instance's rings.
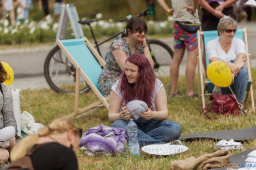
[[[156,79],[154,94],[153,94],[153,98],[152,98],[152,104],[153,104],[154,111],[156,111],[155,96],[159,92],[159,90],[161,89],[162,86],[163,86],[162,82],[159,79]],[[111,87],[111,89],[113,90],[113,92],[115,92],[115,94],[117,94],[117,96],[120,98],[120,100],[123,99],[123,95],[122,95],[122,93],[120,91],[120,88],[119,88],[119,80],[117,80],[114,83],[114,85]],[[124,109],[124,108],[125,108],[125,103],[123,102],[122,105],[121,105],[121,109]]]

